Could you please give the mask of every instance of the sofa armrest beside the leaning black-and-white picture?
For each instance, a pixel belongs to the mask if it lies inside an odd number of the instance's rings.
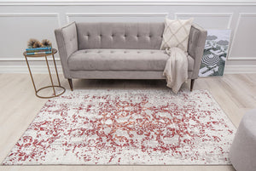
[[[207,40],[207,31],[193,24],[189,32],[189,47],[188,53],[195,60],[194,70],[191,79],[198,77],[198,72],[201,66],[201,58],[204,52],[205,43]]]

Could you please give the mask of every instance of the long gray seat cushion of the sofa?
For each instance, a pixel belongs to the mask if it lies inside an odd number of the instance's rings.
[[[169,55],[164,50],[84,49],[68,58],[72,71],[164,71]],[[194,60],[189,56],[189,71]]]

